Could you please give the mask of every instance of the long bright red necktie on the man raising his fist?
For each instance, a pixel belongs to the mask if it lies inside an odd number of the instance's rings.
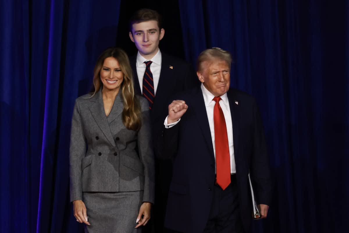
[[[221,97],[214,97],[213,122],[215,128],[216,172],[217,184],[224,190],[230,184],[230,154],[227,125],[219,101]]]

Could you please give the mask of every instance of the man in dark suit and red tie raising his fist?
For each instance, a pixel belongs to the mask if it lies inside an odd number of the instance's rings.
[[[173,176],[165,227],[175,232],[249,232],[252,201],[266,218],[271,181],[265,136],[254,98],[230,85],[230,53],[203,51],[201,85],[176,96],[159,137]]]

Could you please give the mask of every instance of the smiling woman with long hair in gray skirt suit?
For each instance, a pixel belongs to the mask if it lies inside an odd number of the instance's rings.
[[[86,231],[141,232],[154,203],[149,105],[133,90],[126,53],[99,56],[92,91],[75,101],[70,137],[70,201]]]

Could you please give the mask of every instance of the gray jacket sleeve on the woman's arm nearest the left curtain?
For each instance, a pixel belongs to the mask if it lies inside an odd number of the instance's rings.
[[[82,200],[81,160],[86,154],[86,139],[83,133],[79,102],[75,101],[72,129],[70,132],[69,171],[70,201]]]

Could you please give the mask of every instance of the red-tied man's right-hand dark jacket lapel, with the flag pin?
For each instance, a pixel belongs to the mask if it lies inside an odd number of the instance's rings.
[[[233,90],[228,91],[228,100],[231,114],[231,121],[233,125],[233,145],[234,145],[234,156],[238,150],[239,145],[239,126],[240,126],[240,109],[239,100],[236,99]],[[236,161],[236,160],[235,160]]]

